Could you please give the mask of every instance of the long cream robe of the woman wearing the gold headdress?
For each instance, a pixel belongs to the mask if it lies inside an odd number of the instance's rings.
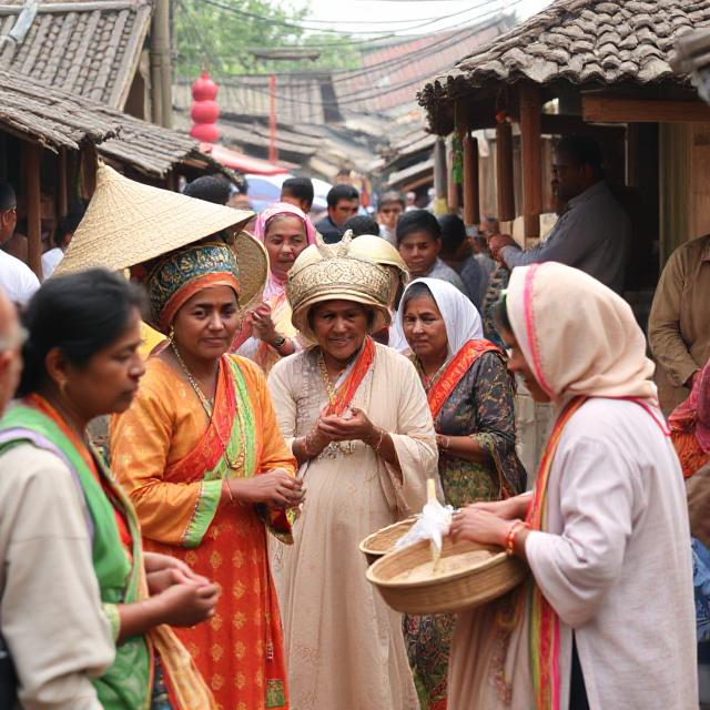
[[[418,707],[402,617],[365,579],[359,541],[420,510],[437,448],[426,395],[412,363],[376,345],[353,406],[393,434],[404,481],[362,442],[308,463],[306,500],[286,552],[283,618],[293,710],[410,710]],[[315,425],[327,393],[317,351],[277,363],[268,379],[286,440]]]

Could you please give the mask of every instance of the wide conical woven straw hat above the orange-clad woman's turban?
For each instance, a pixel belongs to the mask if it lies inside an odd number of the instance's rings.
[[[263,245],[242,232],[253,212],[129,180],[99,163],[97,189],[55,274],[103,266],[123,271],[216,232],[226,232],[240,265],[240,303],[261,297],[268,256]]]

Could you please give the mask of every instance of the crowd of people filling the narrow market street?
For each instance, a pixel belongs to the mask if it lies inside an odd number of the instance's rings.
[[[366,214],[335,185],[314,221],[306,178],[253,215],[223,178],[176,195],[100,166],[41,286],[0,251],[0,706],[697,708],[710,237],[659,283],[659,393],[599,146],[562,139],[552,178],[558,220],[523,250],[396,192]],[[128,211],[153,226],[98,267]],[[4,183],[3,243],[16,225]],[[521,393],[549,418],[539,467]],[[358,544],[429,479],[520,587],[385,604]]]

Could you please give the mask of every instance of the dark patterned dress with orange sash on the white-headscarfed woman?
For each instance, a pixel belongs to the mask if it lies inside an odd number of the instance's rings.
[[[462,372],[458,372],[464,369]],[[448,385],[447,385],[447,382]],[[446,503],[459,508],[477,500],[499,500],[525,490],[526,473],[515,454],[510,378],[498,348],[469,341],[428,392],[437,433],[470,436],[490,462],[465,462],[442,452],[439,477]],[[422,708],[446,708],[448,656],[456,618],[405,616],[409,662],[418,681]]]

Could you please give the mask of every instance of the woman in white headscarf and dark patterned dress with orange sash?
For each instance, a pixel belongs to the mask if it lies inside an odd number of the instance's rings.
[[[460,508],[525,490],[515,453],[513,387],[503,353],[484,339],[480,316],[452,284],[417,278],[398,316],[427,393],[447,504]],[[423,710],[446,708],[454,616],[406,616],[409,662]]]

